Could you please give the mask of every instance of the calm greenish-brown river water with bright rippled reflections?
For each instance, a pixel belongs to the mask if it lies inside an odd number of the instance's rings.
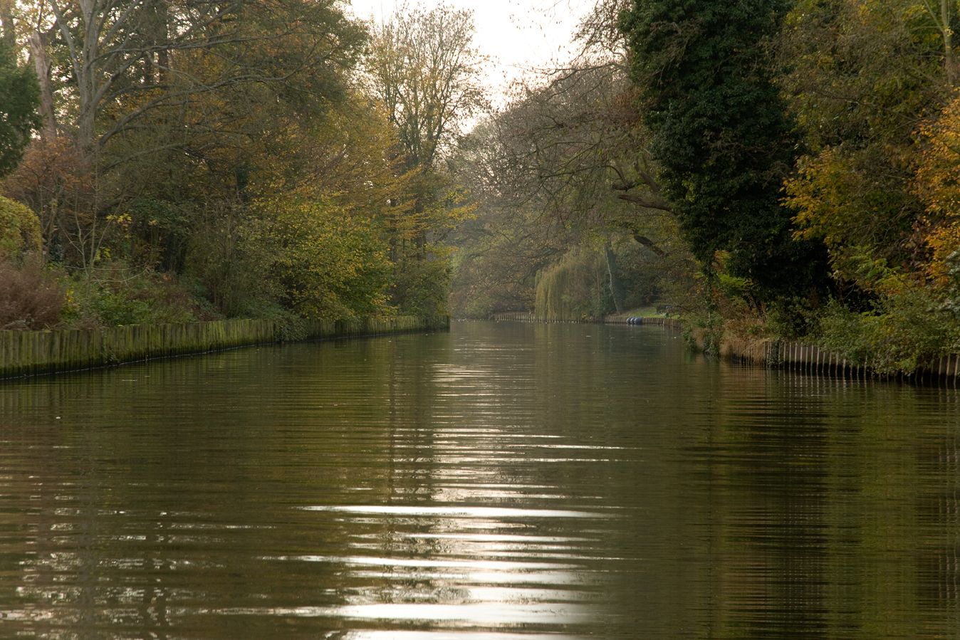
[[[454,323],[0,383],[0,637],[960,636],[960,396]]]

